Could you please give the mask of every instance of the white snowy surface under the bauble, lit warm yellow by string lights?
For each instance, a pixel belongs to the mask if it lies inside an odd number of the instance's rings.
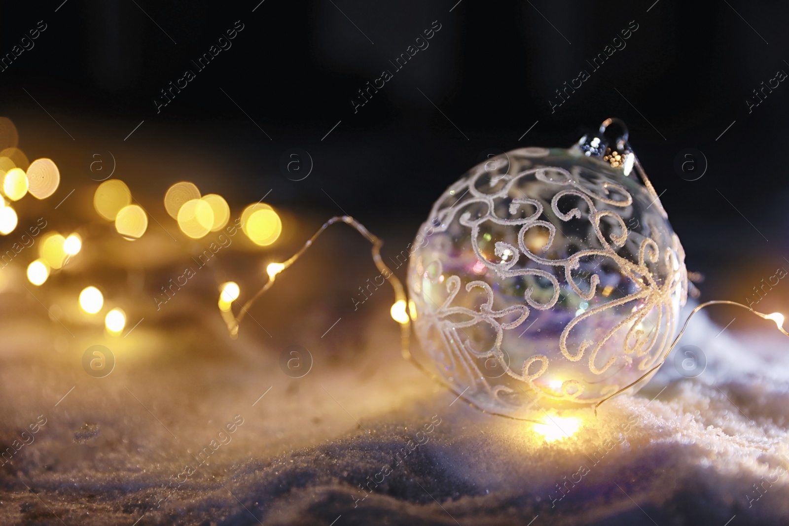
[[[47,319],[43,304],[66,301],[43,289],[40,305],[6,290],[0,444],[33,440],[0,467],[0,524],[789,521],[789,342],[768,322],[721,333],[700,315],[682,345],[703,349],[703,374],[682,378],[671,356],[638,395],[578,413],[581,429],[548,443],[402,360],[383,293],[364,314],[282,300],[290,322],[253,312],[271,338],[251,323],[230,341],[205,281],[159,312],[144,297],[145,320],[115,339],[65,307],[53,314],[68,332]],[[279,366],[289,342],[311,349],[302,379]],[[95,343],[118,360],[103,379],[81,365]]]

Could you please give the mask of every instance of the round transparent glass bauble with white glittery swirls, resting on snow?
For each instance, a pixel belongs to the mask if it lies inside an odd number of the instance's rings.
[[[415,359],[516,418],[594,404],[659,365],[686,299],[684,252],[625,160],[522,148],[447,188],[409,261]]]

